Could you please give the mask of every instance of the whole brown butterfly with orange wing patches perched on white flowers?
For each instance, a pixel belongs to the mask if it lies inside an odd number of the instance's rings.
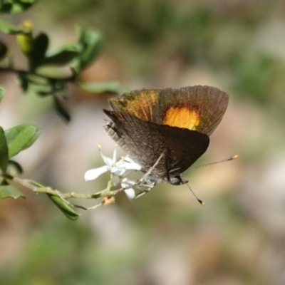
[[[228,104],[209,86],[142,89],[110,99],[104,128],[155,182],[182,185],[181,175],[209,146]]]

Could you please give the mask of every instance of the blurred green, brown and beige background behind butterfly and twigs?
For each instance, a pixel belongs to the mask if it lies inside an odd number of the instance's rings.
[[[51,47],[76,41],[78,24],[103,33],[104,51],[85,81],[224,90],[229,107],[196,165],[239,158],[185,172],[205,207],[172,185],[134,202],[122,193],[76,222],[45,195],[1,200],[1,285],[285,284],[284,1],[50,0],[5,19],[31,19]],[[4,40],[25,67],[14,36]],[[0,84],[1,125],[43,128],[16,157],[24,177],[63,192],[103,190],[108,175],[92,182],[83,175],[103,165],[96,145],[113,154],[102,127],[112,95],[70,86],[66,125],[48,98],[21,95],[14,76],[1,73]]]

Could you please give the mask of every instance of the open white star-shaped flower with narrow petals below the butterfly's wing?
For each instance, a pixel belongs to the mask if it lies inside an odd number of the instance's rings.
[[[101,147],[98,145],[98,149],[100,151],[100,155],[103,158],[103,161],[105,162],[105,165],[102,167],[94,168],[91,170],[86,171],[84,175],[84,179],[86,181],[89,180],[95,180],[103,173],[110,171],[113,173],[112,178],[112,185],[118,185],[120,181],[125,177],[125,175],[128,175],[133,170],[141,170],[141,166],[138,165],[137,162],[132,160],[130,157],[121,157],[117,161],[117,148],[115,147],[113,158],[105,157],[103,153],[101,152]]]

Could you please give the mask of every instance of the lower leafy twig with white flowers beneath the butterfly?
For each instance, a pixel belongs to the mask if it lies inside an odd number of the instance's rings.
[[[9,130],[3,130],[0,127],[0,170],[1,170],[1,185],[0,185],[0,199],[13,197],[18,199],[25,197],[24,194],[18,190],[18,187],[25,187],[27,190],[31,190],[36,194],[44,193],[53,201],[56,206],[61,209],[63,214],[68,219],[76,220],[78,213],[75,212],[74,208],[80,208],[85,210],[95,209],[101,205],[108,205],[115,202],[115,195],[119,192],[124,191],[130,199],[139,197],[145,192],[150,191],[155,185],[145,180],[147,174],[145,174],[141,180],[134,182],[126,179],[126,175],[130,174],[133,170],[140,170],[141,167],[134,162],[130,157],[120,157],[117,160],[116,149],[113,158],[105,157],[100,151],[101,157],[105,162],[103,167],[88,170],[85,175],[85,180],[94,180],[104,172],[110,171],[110,180],[105,190],[97,192],[95,194],[82,194],[82,193],[62,193],[58,190],[53,190],[51,187],[45,187],[38,182],[33,180],[24,180],[16,175],[21,174],[22,169],[12,157],[17,155],[22,150],[30,147],[33,142],[36,141],[41,130],[34,127],[33,125],[18,125]],[[99,147],[100,150],[100,147]],[[114,190],[120,183],[121,188]],[[135,188],[140,190],[137,194]],[[142,190],[144,189],[144,190]],[[99,199],[101,198],[100,204],[96,204],[93,207],[84,207],[78,204],[72,204],[68,199],[79,198],[79,199]]]

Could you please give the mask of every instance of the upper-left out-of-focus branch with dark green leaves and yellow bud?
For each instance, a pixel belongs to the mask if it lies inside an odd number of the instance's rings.
[[[0,13],[19,14],[30,8],[35,0],[11,1],[4,0],[0,4]],[[81,80],[81,73],[97,58],[103,48],[103,38],[98,31],[92,31],[82,26],[76,28],[78,41],[48,51],[50,41],[44,32],[33,34],[33,23],[30,20],[22,21],[19,26],[0,19],[0,32],[16,36],[19,50],[27,59],[26,70],[15,68],[13,56],[9,46],[0,40],[0,72],[14,73],[24,91],[33,91],[41,97],[53,96],[54,105],[59,115],[65,120],[71,119],[65,99],[66,83],[73,83],[90,93],[122,93],[123,87],[118,81],[103,83],[86,83]],[[69,72],[64,76],[49,76],[43,69],[53,66],[62,73],[62,67],[68,66]],[[41,71],[40,71],[41,69]]]

